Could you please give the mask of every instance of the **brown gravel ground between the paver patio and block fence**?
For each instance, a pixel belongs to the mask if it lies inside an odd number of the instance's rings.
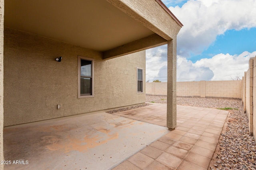
[[[146,95],[146,102],[167,103],[166,96]],[[220,149],[212,158],[209,170],[255,170],[256,148],[249,135],[248,119],[241,100],[177,97],[178,105],[225,108],[230,107],[227,127],[222,131]]]

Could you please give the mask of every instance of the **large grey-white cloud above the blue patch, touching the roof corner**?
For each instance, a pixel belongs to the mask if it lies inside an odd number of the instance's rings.
[[[177,39],[183,57],[202,53],[229,29],[256,27],[256,0],[188,0],[169,9],[184,25]]]

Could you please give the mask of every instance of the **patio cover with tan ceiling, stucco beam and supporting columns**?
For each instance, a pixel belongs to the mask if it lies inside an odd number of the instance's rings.
[[[161,0],[0,0],[0,7],[1,144],[4,27],[100,51],[103,60],[168,44],[167,127],[176,127],[176,37],[182,23]]]

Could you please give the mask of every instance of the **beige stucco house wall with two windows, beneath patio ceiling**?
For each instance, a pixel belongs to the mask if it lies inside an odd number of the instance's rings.
[[[78,98],[78,55],[94,59],[94,98]],[[100,52],[5,28],[4,126],[144,103],[137,67],[145,77],[145,66],[145,51],[103,61]]]

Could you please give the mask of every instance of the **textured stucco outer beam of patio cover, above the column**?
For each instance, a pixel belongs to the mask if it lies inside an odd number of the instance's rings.
[[[155,0],[107,1],[167,40],[176,39],[180,31],[181,26]]]

